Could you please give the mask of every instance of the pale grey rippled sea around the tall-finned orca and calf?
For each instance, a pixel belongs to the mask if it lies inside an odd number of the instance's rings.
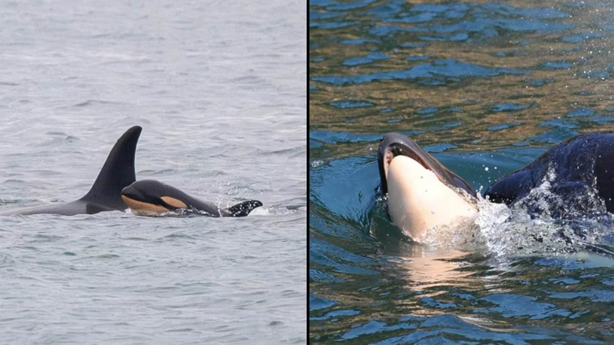
[[[0,343],[306,342],[306,27],[296,1],[6,2],[0,209],[137,179],[241,219],[0,217]]]

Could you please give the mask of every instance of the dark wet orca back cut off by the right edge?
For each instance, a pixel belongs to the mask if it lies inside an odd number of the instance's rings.
[[[547,183],[539,193],[534,188]],[[551,147],[524,168],[496,180],[486,197],[524,203],[555,218],[614,213],[614,133],[589,133]],[[536,201],[536,202],[533,202]]]

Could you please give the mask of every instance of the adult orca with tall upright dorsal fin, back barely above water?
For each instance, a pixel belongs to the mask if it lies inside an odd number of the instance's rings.
[[[9,209],[0,215],[9,214],[95,214],[101,211],[124,211],[128,206],[122,200],[122,189],[132,184],[134,175],[134,152],[142,128],[134,126],[115,142],[104,162],[96,181],[83,198],[71,203],[41,205],[23,209]]]

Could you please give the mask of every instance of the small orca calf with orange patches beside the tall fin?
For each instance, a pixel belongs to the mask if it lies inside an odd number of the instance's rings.
[[[210,217],[245,217],[256,207],[262,206],[258,200],[249,200],[220,209],[215,204],[198,200],[157,180],[134,182],[123,188],[122,199],[138,215],[160,215],[163,212],[187,209],[193,214]]]

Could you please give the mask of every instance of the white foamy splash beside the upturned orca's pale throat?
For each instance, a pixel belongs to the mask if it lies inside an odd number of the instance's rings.
[[[607,213],[588,216],[585,213],[585,216],[573,219],[553,217],[548,212],[551,203],[565,204],[552,190],[554,180],[556,175],[549,171],[548,178],[539,187],[511,207],[491,203],[478,195],[480,211],[474,217],[434,227],[414,240],[429,247],[499,258],[556,255],[584,249],[610,251],[604,244],[611,233],[614,216]],[[598,200],[596,194],[590,196]],[[573,206],[566,204],[569,211]],[[539,209],[545,211],[536,213],[535,210]],[[600,208],[593,211],[600,211]]]

